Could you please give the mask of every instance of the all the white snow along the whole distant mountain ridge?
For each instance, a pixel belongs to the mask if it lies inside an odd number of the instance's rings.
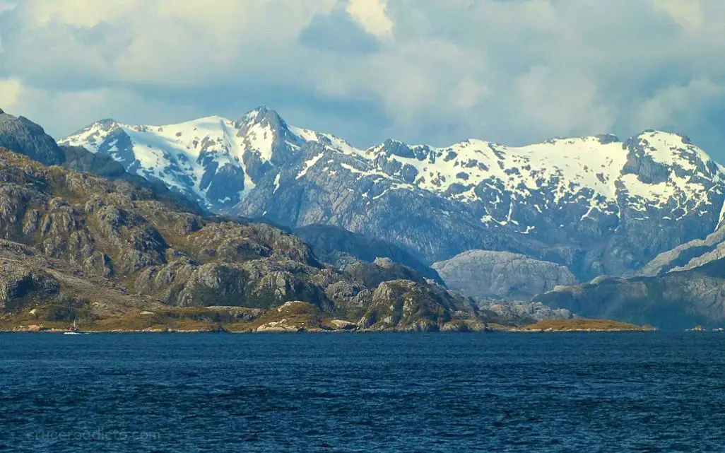
[[[242,127],[244,134],[238,134]],[[547,202],[554,205],[562,200],[586,200],[588,211],[581,216],[583,220],[597,210],[616,209],[618,196],[623,190],[629,194],[631,202],[639,206],[637,209],[645,209],[645,204],[663,206],[682,194],[687,199],[696,199],[696,204],[709,202],[705,186],[687,176],[677,176],[673,171],[666,181],[656,184],[644,183],[637,175],[624,174],[629,150],[613,136],[556,138],[526,146],[505,146],[479,139],[444,147],[386,141],[363,150],[328,133],[287,125],[276,112],[260,107],[241,115],[236,121],[215,115],[173,125],[131,126],[104,120],[68,136],[60,143],[85,146],[92,152],[99,152],[99,147],[104,145],[112,152],[116,144],[110,140],[104,143],[104,139],[115,130],[123,130],[133,144],[133,155],[141,167],[139,174],[154,176],[180,190],[194,191],[201,199],[206,197],[205,190],[200,188],[206,169],[197,160],[204,153],[204,158],[213,158],[219,168],[232,165],[243,171],[245,187],[241,196],[244,197],[254,188],[255,182],[258,183],[247,172],[244,154],[255,151],[262,162],[270,162],[275,140],[282,136],[280,130],[275,130],[276,127],[286,128],[294,137],[290,139],[290,135],[283,135],[292,152],[305,142],[317,142],[326,149],[365,159],[371,167],[365,174],[392,180],[401,188],[423,189],[466,203],[479,201],[479,194],[474,191],[477,186],[502,196],[506,193],[512,203],[523,201],[537,192],[546,192],[550,194]],[[711,162],[704,151],[673,133],[645,131],[633,139],[654,162],[668,167],[678,165],[684,170],[695,171],[697,162],[705,165]],[[384,164],[378,163],[378,157],[383,153],[386,153],[387,161],[397,161],[401,169],[405,168],[407,179],[403,179],[402,170],[390,173],[389,167],[381,167]],[[317,163],[315,158],[320,159],[322,155],[305,162],[297,179],[304,176]],[[352,173],[360,172],[354,167],[337,167]],[[410,167],[416,172],[414,180],[410,179]],[[722,178],[724,167],[712,164],[709,167],[718,171],[715,175],[705,175],[706,178],[725,180]],[[328,165],[325,171],[333,175],[337,170]],[[189,180],[192,187],[189,187]],[[277,178],[275,191],[278,185]],[[506,198],[497,197],[494,202],[498,203],[501,199]],[[539,212],[551,207],[545,204],[535,206]],[[484,218],[488,217],[491,216],[484,215]],[[509,219],[489,221],[508,223]]]

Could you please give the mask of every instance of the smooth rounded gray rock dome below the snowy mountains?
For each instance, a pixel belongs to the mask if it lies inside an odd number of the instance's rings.
[[[465,296],[528,301],[576,277],[564,266],[510,252],[469,250],[433,268],[452,290]]]

